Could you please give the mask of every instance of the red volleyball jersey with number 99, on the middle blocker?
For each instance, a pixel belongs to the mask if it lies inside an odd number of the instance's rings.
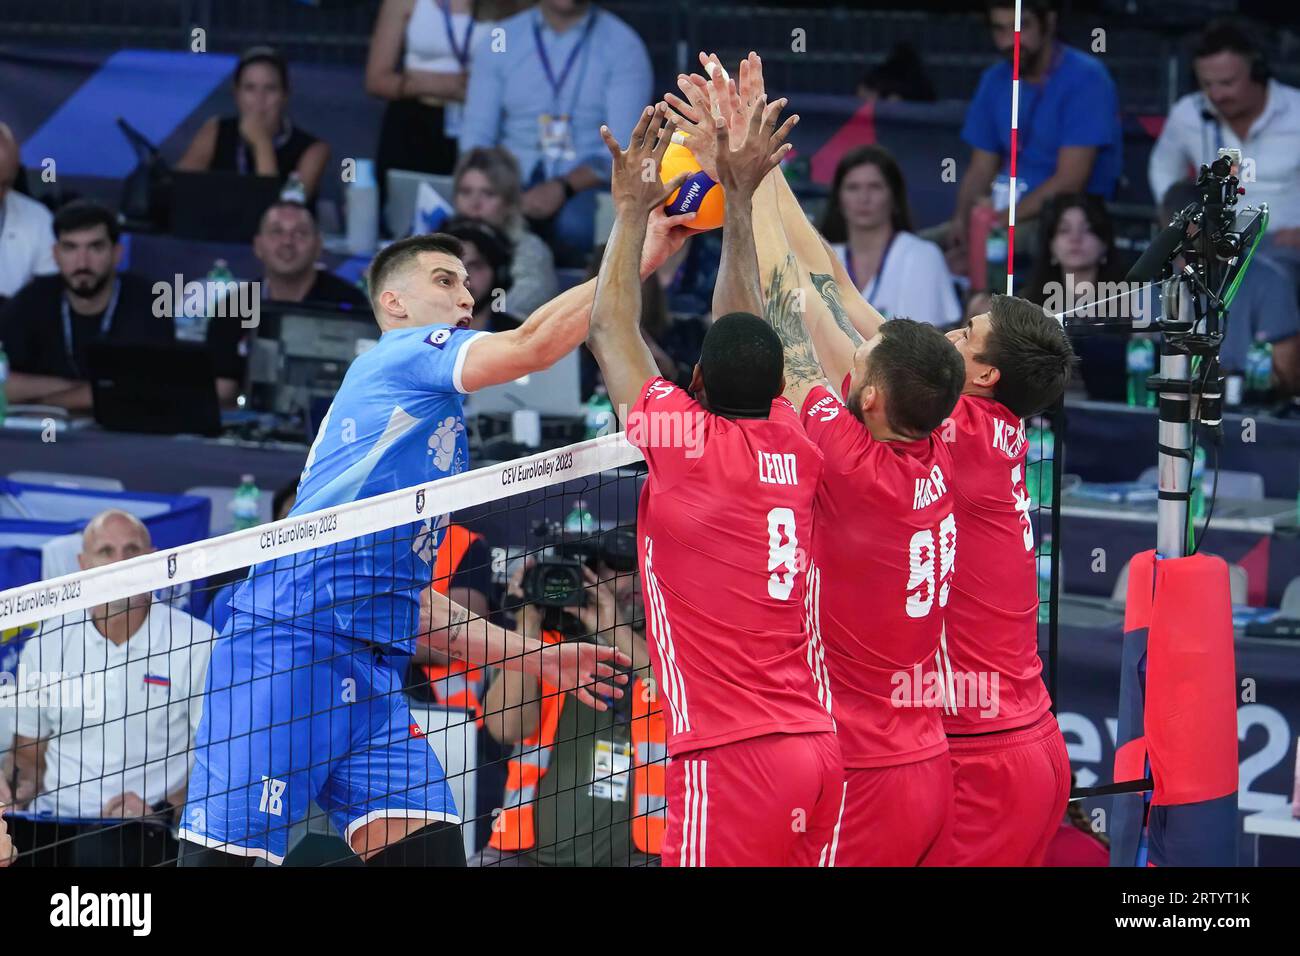
[[[809,614],[844,765],[941,754],[937,653],[961,528],[948,449],[937,436],[876,441],[824,386],[802,421],[826,459]]]

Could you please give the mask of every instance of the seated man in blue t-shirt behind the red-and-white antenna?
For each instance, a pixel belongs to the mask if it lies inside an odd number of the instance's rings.
[[[1010,204],[1011,53],[1015,5],[988,0],[993,43],[1005,57],[984,70],[966,111],[962,139],[970,164],[948,229],[949,265],[966,272],[971,209],[992,190],[996,209]],[[1034,248],[1034,220],[1061,193],[1109,199],[1122,169],[1119,99],[1101,61],[1057,38],[1054,0],[1028,0],[1020,16],[1019,159],[1015,204],[1017,247]]]

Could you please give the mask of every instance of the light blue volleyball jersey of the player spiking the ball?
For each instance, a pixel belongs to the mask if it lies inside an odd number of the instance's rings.
[[[408,488],[469,464],[460,371],[488,334],[447,325],[390,329],[358,358],[321,420],[290,516]],[[255,564],[233,605],[259,618],[410,654],[420,589],[446,528],[424,522]]]

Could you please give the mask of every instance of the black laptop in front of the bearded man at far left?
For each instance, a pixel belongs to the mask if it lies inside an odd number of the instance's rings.
[[[114,432],[221,434],[212,355],[196,342],[95,342],[95,421]]]

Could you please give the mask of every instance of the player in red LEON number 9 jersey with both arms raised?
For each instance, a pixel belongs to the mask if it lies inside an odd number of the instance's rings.
[[[672,122],[666,112],[649,124],[644,116],[627,151],[602,130],[618,219],[588,345],[650,468],[637,529],[671,754],[666,865],[811,865],[840,805],[840,752],[807,661],[801,568],[822,457],[781,397],[781,346],[755,315],[750,206],[785,152],[793,117],[772,129],[781,105],[759,103],[734,150],[722,137],[722,317],[705,338],[694,397],[658,376],[638,329],[637,255],[646,213],[667,195],[646,170]]]

